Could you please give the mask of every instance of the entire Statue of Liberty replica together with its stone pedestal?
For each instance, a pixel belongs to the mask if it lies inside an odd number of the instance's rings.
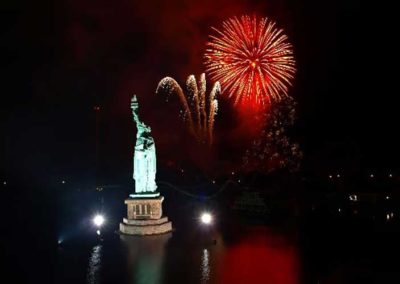
[[[162,216],[164,197],[157,191],[156,147],[151,128],[139,118],[139,104],[132,97],[131,108],[137,134],[133,158],[135,193],[130,194],[125,204],[128,216],[120,223],[120,232],[128,235],[154,235],[172,230],[172,224]]]

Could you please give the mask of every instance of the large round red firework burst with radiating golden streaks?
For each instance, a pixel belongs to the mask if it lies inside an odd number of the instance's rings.
[[[242,16],[213,28],[205,53],[206,70],[235,103],[266,105],[287,96],[294,77],[292,45],[283,30],[263,18]]]

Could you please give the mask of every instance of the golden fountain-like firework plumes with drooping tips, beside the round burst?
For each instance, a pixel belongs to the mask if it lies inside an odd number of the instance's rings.
[[[167,93],[167,101],[170,95],[176,94],[182,105],[182,118],[187,123],[190,134],[198,141],[211,145],[213,142],[215,116],[218,112],[217,96],[221,93],[221,86],[219,82],[214,84],[208,100],[206,89],[206,78],[203,73],[200,75],[199,83],[196,82],[194,75],[190,75],[187,78],[186,95],[178,82],[171,77],[165,77],[158,83],[156,93],[160,93],[160,90],[165,91]]]

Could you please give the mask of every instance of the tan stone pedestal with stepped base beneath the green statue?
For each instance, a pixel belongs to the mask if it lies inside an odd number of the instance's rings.
[[[119,230],[127,235],[156,235],[172,231],[172,224],[162,216],[163,196],[157,198],[129,198],[127,218],[119,224]]]

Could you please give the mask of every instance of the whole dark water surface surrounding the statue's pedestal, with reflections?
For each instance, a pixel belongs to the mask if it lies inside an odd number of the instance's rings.
[[[274,221],[240,218],[224,202],[168,196],[175,231],[133,237],[115,232],[124,194],[105,203],[86,193],[61,202],[3,196],[2,283],[400,283],[396,204],[317,202]],[[99,204],[107,216],[100,237],[90,220]],[[212,226],[198,220],[204,209],[214,213]]]

